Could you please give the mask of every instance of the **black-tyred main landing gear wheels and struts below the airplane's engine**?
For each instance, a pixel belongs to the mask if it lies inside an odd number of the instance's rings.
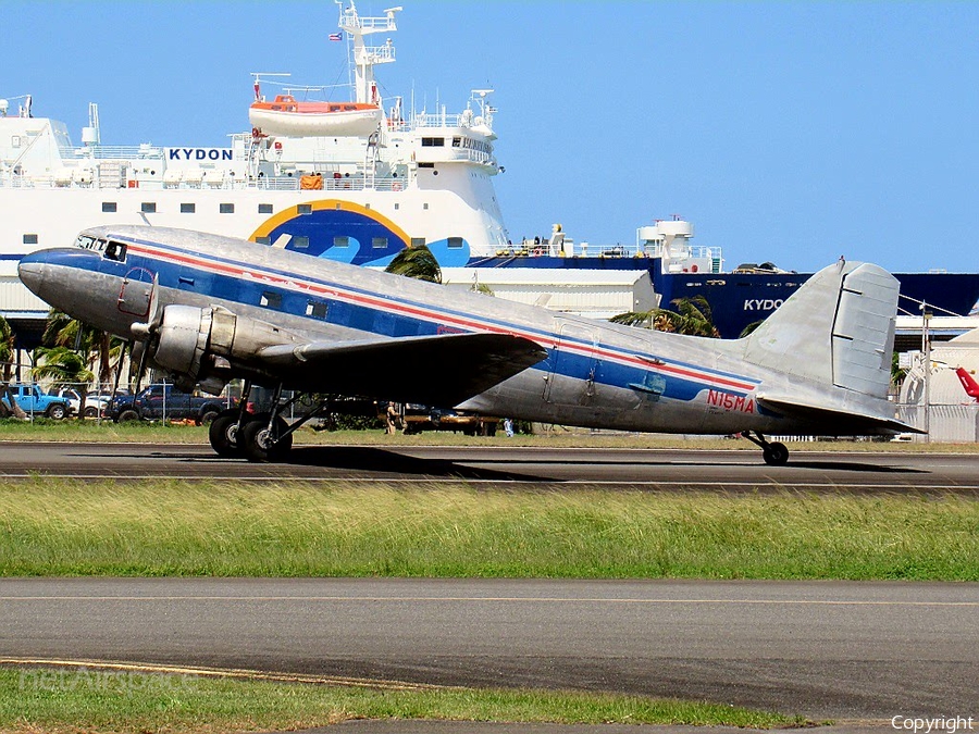
[[[280,384],[276,386],[272,399],[272,410],[256,414],[249,413],[247,410],[250,394],[251,383],[246,382],[238,408],[225,410],[211,421],[208,438],[211,441],[211,448],[218,456],[245,457],[249,461],[257,462],[285,461],[293,448],[293,434],[296,430],[330,409],[330,402],[324,400],[315,410],[289,425],[282,418],[283,411],[305,398],[306,394],[297,394],[292,400],[280,405],[282,397],[282,385]]]

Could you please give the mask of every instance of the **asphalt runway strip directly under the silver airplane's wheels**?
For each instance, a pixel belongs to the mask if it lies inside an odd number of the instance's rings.
[[[979,453],[797,451],[768,466],[760,451],[522,447],[300,446],[288,463],[219,459],[206,446],[0,445],[0,477],[345,480],[669,489],[954,492],[979,497]]]

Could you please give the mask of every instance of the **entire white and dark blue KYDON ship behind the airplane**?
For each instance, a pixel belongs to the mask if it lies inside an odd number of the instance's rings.
[[[220,233],[372,268],[425,245],[457,287],[481,283],[561,311],[608,318],[704,296],[726,337],[808,277],[764,265],[727,272],[720,249],[694,247],[680,217],[639,227],[628,247],[575,245],[559,227],[515,246],[494,188],[503,167],[493,90],[471,90],[455,112],[409,109],[379,91],[375,69],[396,61],[398,12],[339,5],[329,45],[346,46],[351,62],[344,99],[311,99],[308,86],[252,74],[248,125],[227,147],[178,132],[172,145],[107,145],[96,103],[76,145],[32,97],[0,99],[0,314],[22,344],[36,340],[47,307],[17,281],[17,261],[95,225]],[[979,274],[897,277],[908,312],[927,302],[965,314],[979,300]]]

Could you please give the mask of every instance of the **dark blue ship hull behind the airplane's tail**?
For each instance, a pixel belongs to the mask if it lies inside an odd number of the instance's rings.
[[[678,298],[703,296],[714,324],[726,339],[738,338],[766,319],[811,273],[661,273],[658,258],[473,258],[469,268],[540,268],[546,270],[647,270],[661,308]],[[968,315],[979,301],[979,273],[894,273],[901,282],[901,314],[920,313],[927,302],[937,316]]]

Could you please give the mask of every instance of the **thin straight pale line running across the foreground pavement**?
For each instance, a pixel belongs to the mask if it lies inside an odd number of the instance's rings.
[[[607,605],[759,605],[816,607],[979,607],[976,601],[887,601],[859,599],[615,599],[600,597],[523,597],[523,596],[0,596],[0,601],[329,601],[329,602],[473,602],[505,604],[607,604]]]

